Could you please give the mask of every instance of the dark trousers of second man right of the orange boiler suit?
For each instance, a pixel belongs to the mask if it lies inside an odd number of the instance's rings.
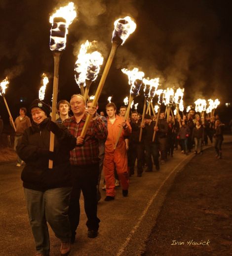
[[[153,169],[153,162],[152,162],[152,157],[155,165],[158,165],[158,157],[159,157],[159,152],[158,152],[158,144],[156,143],[150,143],[150,142],[145,142],[145,151],[146,151],[146,163],[148,165],[148,169],[152,171]]]

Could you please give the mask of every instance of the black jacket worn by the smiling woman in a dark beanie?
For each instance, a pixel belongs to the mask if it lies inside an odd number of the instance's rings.
[[[16,148],[26,163],[21,174],[25,188],[44,191],[71,186],[69,152],[75,148],[77,139],[61,124],[55,124],[53,131],[50,123],[49,118],[39,125],[33,122]],[[50,130],[55,134],[53,155],[49,152]],[[49,157],[53,158],[52,169],[48,169]]]

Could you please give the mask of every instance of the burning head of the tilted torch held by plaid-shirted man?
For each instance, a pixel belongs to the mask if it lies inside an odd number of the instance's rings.
[[[123,45],[129,35],[135,31],[136,24],[129,16],[117,19],[114,24],[115,30],[113,31],[112,42]]]

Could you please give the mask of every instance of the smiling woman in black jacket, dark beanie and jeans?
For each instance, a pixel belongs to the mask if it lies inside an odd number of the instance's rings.
[[[32,126],[24,131],[17,153],[25,161],[21,179],[37,256],[50,251],[49,223],[61,240],[61,255],[70,252],[71,230],[68,219],[69,197],[72,189],[69,152],[76,138],[68,129],[50,120],[50,107],[40,100],[32,102]],[[54,152],[49,151],[50,131],[55,134]],[[48,168],[49,159],[53,168]]]

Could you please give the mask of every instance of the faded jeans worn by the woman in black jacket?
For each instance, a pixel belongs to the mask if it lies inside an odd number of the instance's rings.
[[[57,238],[62,242],[70,241],[68,209],[71,190],[71,187],[66,187],[42,192],[24,188],[37,252],[49,254],[50,241],[47,222]]]

